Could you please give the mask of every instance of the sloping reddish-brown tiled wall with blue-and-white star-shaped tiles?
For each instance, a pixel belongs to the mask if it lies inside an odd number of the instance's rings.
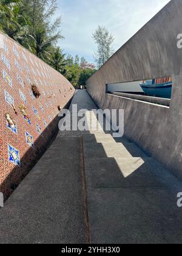
[[[33,84],[40,98],[35,98]],[[44,151],[58,127],[58,105],[64,107],[74,92],[55,69],[0,34],[0,192],[5,199]],[[22,115],[22,104],[29,118]]]

